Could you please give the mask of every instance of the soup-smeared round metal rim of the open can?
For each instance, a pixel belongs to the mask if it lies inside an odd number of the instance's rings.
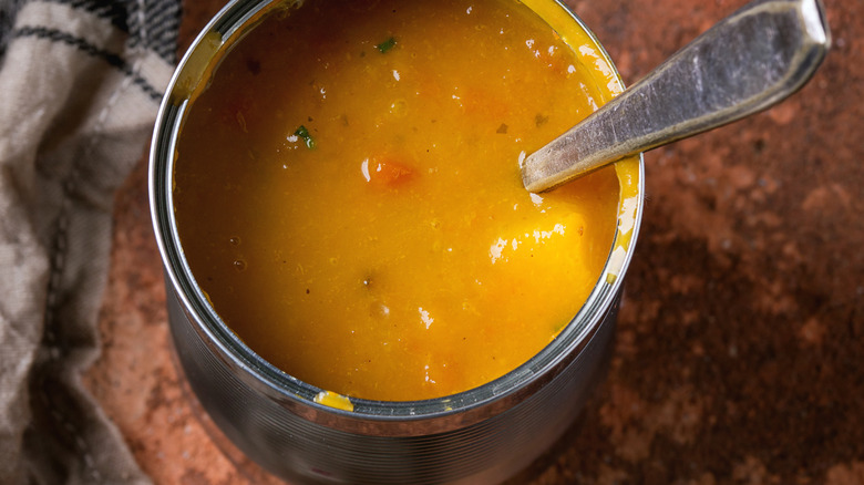
[[[614,78],[623,89],[624,82],[620,74],[596,35],[560,0],[551,1],[563,9],[569,19],[585,31],[596,45],[599,55],[611,68]],[[191,68],[191,64],[200,62],[199,59],[196,61],[195,58],[200,55],[202,50],[215,52],[213,50],[215,37],[218,37],[222,44],[227,43],[237,35],[241,35],[249,24],[254,24],[263,13],[279,3],[280,0],[233,0],[226,4],[192,43],[166,87],[156,117],[150,151],[148,195],[153,229],[166,275],[166,283],[171,286],[169,290],[179,300],[187,318],[194,322],[195,330],[203,341],[223,362],[236,371],[244,383],[284,406],[309,415],[313,421],[336,424],[339,427],[361,433],[364,426],[362,423],[368,424],[369,421],[377,421],[383,424],[394,424],[395,427],[391,430],[393,433],[413,434],[404,431],[404,427],[399,426],[399,424],[469,413],[471,417],[461,416],[462,419],[457,420],[461,425],[465,425],[467,421],[476,422],[503,412],[514,400],[518,400],[549,382],[560,369],[577,359],[580,351],[596,333],[605,314],[615,305],[615,299],[621,291],[624,276],[632,258],[642,218],[645,193],[642,155],[638,156],[637,206],[634,210],[635,220],[629,229],[625,254],[614,261],[613,249],[623,237],[621,229],[616,228],[615,239],[604,265],[604,271],[587,300],[558,336],[537,354],[501,378],[448,396],[421,401],[376,401],[350,398],[353,404],[352,411],[318,403],[315,398],[323,391],[322,389],[300,381],[264,360],[240,341],[209,306],[183,256],[183,248],[176,231],[171,190],[176,140],[183,116],[188,107],[188,97],[178,96],[176,93],[179,84],[183,83],[184,72],[188,69],[200,69],[200,66]],[[619,202],[620,204],[621,202]],[[613,262],[617,266],[613,271],[617,277],[609,281],[606,276],[610,272],[609,268]]]

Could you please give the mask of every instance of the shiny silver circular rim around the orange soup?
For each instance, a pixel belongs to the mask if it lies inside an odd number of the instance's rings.
[[[205,340],[213,340],[210,343],[212,347],[215,345],[214,350],[218,350],[218,352],[222,353],[220,358],[226,363],[248,372],[249,375],[245,379],[246,383],[261,390],[274,400],[280,402],[301,400],[304,405],[313,406],[319,409],[319,411],[342,414],[349,417],[362,416],[364,419],[416,420],[430,415],[441,416],[454,414],[492,404],[506,395],[518,392],[525,385],[529,385],[532,382],[541,380],[541,378],[543,378],[544,381],[552,379],[553,375],[548,374],[554,368],[558,367],[564,361],[572,361],[577,358],[579,350],[587,343],[594,331],[596,331],[595,327],[601,321],[605,311],[608,310],[616,295],[620,291],[624,280],[623,276],[632,257],[632,246],[641,220],[641,210],[644,206],[644,163],[641,155],[639,156],[639,199],[636,210],[636,224],[635,227],[631,228],[632,234],[627,237],[624,260],[616,260],[613,262],[613,250],[616,247],[619,247],[619,240],[623,238],[620,230],[616,228],[615,240],[609,249],[604,271],[586,302],[570,322],[562,330],[556,339],[527,362],[479,388],[449,396],[423,401],[374,401],[351,398],[353,411],[329,407],[313,402],[315,396],[321,392],[322,389],[295,379],[264,360],[248,348],[218,317],[187,266],[174,220],[174,205],[169,189],[172,187],[175,159],[174,147],[182,128],[183,114],[185,113],[189,97],[192,96],[188,86],[178,89],[177,80],[184,79],[183,73],[188,59],[206,42],[207,34],[218,34],[222,38],[222,43],[224,45],[230,45],[230,43],[236,42],[237,39],[241,38],[250,25],[254,25],[257,20],[260,19],[260,16],[268,13],[277,3],[278,2],[255,2],[244,0],[229,3],[223,9],[186,52],[172,79],[165,100],[163,101],[163,106],[160,110],[161,113],[154,133],[154,149],[151,155],[151,196],[154,207],[154,229],[157,239],[160,239],[160,250],[168,275],[168,280],[184,305],[186,313],[194,317],[195,323],[198,327],[196,328],[196,331],[198,331]],[[555,3],[564,9],[589,35],[595,45],[599,48],[601,55],[613,68],[615,75],[620,82],[620,75],[617,70],[615,70],[608,53],[603,50],[603,47],[597,41],[596,37],[577,16],[569,11],[569,9],[557,0],[555,0]],[[212,61],[217,61],[217,59],[213,58]],[[165,140],[165,137],[167,137],[167,140]],[[606,275],[610,272],[610,266],[616,267],[614,268],[614,272],[617,274],[618,277],[611,282],[608,282],[605,279]]]

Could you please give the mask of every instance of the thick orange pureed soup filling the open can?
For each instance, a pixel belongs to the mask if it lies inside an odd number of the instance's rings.
[[[520,178],[610,97],[575,48],[511,0],[268,17],[177,145],[177,230],[215,310],[285,372],[363,399],[527,361],[586,300],[617,221],[614,169],[542,195]]]

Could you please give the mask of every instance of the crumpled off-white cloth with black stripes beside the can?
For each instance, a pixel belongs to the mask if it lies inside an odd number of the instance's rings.
[[[0,484],[150,483],[81,388],[179,0],[0,0]]]

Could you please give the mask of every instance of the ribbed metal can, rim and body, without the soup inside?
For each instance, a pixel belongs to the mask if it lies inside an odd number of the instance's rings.
[[[641,157],[619,200],[615,242],[588,300],[557,338],[506,375],[459,394],[413,402],[352,399],[351,411],[276,369],[228,329],[185,261],[172,199],[175,146],[192,90],[248,29],[290,0],[234,0],[198,35],[160,109],[151,147],[150,198],[168,292],[171,332],[189,388],[234,445],[274,475],[297,483],[497,483],[524,468],[576,419],[611,348],[624,276],[642,209]],[[582,21],[555,0],[556,30]],[[552,12],[552,13],[548,13]]]

